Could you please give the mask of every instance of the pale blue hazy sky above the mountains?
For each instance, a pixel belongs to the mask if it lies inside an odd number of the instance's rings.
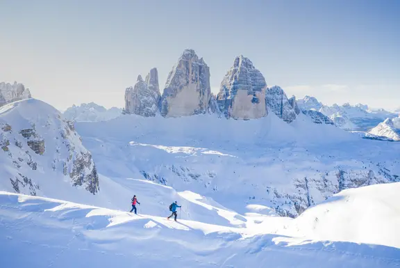
[[[324,104],[400,107],[397,0],[0,0],[0,81],[60,110],[124,107],[124,91],[158,68],[160,89],[183,49],[219,90],[235,56],[268,86]]]

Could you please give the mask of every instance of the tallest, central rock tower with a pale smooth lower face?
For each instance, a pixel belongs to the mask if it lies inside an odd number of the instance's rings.
[[[185,49],[169,72],[160,101],[165,117],[206,113],[211,97],[210,68],[194,50]]]

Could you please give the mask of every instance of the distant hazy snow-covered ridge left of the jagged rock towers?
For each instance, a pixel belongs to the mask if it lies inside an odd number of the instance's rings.
[[[69,107],[63,113],[63,116],[67,120],[78,121],[106,121],[111,120],[113,118],[117,118],[121,116],[122,109],[117,107],[113,107],[110,109],[106,109],[94,102],[83,103],[81,105],[76,106],[75,104],[72,107]]]

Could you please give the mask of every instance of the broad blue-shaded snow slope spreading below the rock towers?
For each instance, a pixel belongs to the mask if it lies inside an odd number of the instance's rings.
[[[297,216],[342,189],[400,175],[399,143],[360,139],[302,113],[290,124],[274,113],[254,120],[126,115],[76,129],[102,175],[194,191],[238,212],[256,203]]]

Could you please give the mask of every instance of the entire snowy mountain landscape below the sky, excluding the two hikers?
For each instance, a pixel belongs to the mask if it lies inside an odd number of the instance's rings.
[[[400,143],[337,127],[392,113],[288,98],[244,56],[214,96],[192,49],[163,94],[156,68],[139,76],[115,117],[93,103],[61,114],[24,92],[8,86],[26,100],[0,108],[7,267],[400,265]],[[369,135],[393,140],[398,125]],[[140,216],[126,212],[133,194]],[[165,219],[174,200],[178,223]]]

